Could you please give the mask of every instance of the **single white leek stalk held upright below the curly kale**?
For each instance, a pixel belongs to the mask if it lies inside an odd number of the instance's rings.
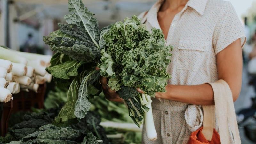
[[[149,140],[156,140],[157,134],[152,113],[152,100],[149,95],[142,94],[142,97],[146,97],[148,103],[145,105],[149,108],[148,112],[144,113],[144,126],[146,128],[146,134]]]

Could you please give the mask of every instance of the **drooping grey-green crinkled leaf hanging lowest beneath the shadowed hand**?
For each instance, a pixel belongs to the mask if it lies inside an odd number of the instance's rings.
[[[87,111],[89,111],[91,103],[88,100],[88,87],[100,78],[100,71],[93,70],[84,77],[80,88],[78,98],[75,104],[75,115],[77,118],[84,118]]]

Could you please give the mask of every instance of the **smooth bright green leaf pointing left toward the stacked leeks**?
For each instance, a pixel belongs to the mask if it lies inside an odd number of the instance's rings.
[[[78,68],[82,65],[82,62],[72,60],[66,61],[62,64],[47,67],[47,71],[56,78],[70,79],[72,76],[78,75]]]

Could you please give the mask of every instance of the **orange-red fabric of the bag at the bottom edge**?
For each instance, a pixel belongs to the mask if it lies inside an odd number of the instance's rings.
[[[213,130],[211,141],[206,140],[202,129],[203,127],[191,133],[188,144],[220,144],[220,135],[215,129]]]

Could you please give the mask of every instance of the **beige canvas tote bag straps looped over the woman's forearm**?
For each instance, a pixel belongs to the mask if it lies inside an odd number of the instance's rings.
[[[229,127],[231,129],[232,135],[234,137],[235,144],[241,144],[238,126],[236,122],[236,115],[233,103],[232,92],[228,84],[224,80],[218,80],[215,83],[209,83],[212,86],[214,92],[214,102],[215,106],[203,106],[204,110],[204,121],[202,132],[207,140],[211,140],[210,136],[213,131],[211,128],[214,125],[214,119],[212,118],[213,114],[212,108],[215,107],[216,118],[219,127],[220,141],[223,144],[229,144],[229,137],[232,137],[229,133]],[[210,129],[211,128],[211,129]]]

